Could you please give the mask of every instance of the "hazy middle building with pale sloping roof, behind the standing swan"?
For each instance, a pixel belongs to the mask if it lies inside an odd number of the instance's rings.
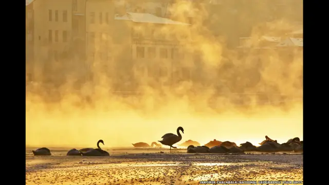
[[[127,12],[125,4],[109,0],[87,1],[85,23],[90,71],[103,72],[120,86],[136,78],[170,83],[186,73],[189,76],[186,68],[191,65],[183,62],[191,56],[186,54],[189,24]]]

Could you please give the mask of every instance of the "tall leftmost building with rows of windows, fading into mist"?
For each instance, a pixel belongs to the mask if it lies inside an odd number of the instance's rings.
[[[27,71],[46,80],[85,57],[85,0],[26,0]],[[62,63],[65,63],[63,65]],[[31,72],[29,72],[31,73]]]

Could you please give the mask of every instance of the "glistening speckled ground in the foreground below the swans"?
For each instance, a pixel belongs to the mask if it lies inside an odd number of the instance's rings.
[[[145,153],[26,156],[26,184],[198,184],[303,180],[303,155]],[[301,183],[302,184],[302,183]]]

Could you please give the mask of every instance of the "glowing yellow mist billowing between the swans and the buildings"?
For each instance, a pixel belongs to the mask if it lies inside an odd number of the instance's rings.
[[[195,7],[182,2],[171,9],[179,17],[180,13],[195,10]],[[94,61],[94,79],[84,82],[78,89],[74,85],[77,80],[76,71],[67,73],[65,82],[58,88],[45,87],[42,83],[27,86],[26,145],[95,147],[99,139],[104,140],[104,147],[132,146],[131,143],[135,142],[151,144],[160,140],[163,134],[175,133],[178,126],[185,130],[182,142],[192,139],[200,144],[217,139],[234,141],[237,144],[249,141],[256,145],[265,139],[265,135],[279,142],[293,137],[302,139],[302,54],[294,52],[292,58],[285,58],[277,50],[269,49],[266,54],[250,51],[242,58],[238,57],[236,51],[227,47],[228,43],[223,38],[213,35],[202,26],[201,23],[208,16],[207,10],[199,8],[195,13],[198,18],[193,26],[175,29],[178,32],[191,32],[194,44],[182,44],[182,47],[189,52],[200,53],[203,61],[203,67],[200,68],[201,79],[183,80],[168,85],[157,83],[153,77],[142,77],[139,72],[134,71],[134,82],[138,84],[135,90],[144,94],[137,96],[138,98],[124,98],[111,92],[116,90],[113,84],[123,84],[126,81],[108,78],[106,72],[97,67],[99,62]],[[180,17],[180,20],[184,21],[184,17]],[[248,21],[253,21],[252,16]],[[289,29],[289,26],[286,20],[255,23],[250,36],[257,38],[265,34],[278,35],[278,28]],[[257,63],[255,57],[261,60]],[[227,61],[233,63],[234,67],[224,69]],[[182,60],[180,65],[190,62],[187,59]],[[65,62],[57,65],[65,65]],[[253,73],[246,71],[254,68],[259,71],[260,80],[255,85],[243,86],[248,83],[246,79],[253,78]],[[233,83],[230,75],[242,78]],[[45,74],[39,78],[35,82],[45,78]],[[161,77],[158,80],[168,79],[169,77]],[[259,97],[256,95],[240,100],[248,105],[239,105],[234,103],[236,95],[232,96],[226,91],[222,95],[218,94],[218,81],[231,84],[230,90],[241,94],[272,88],[270,93],[284,94],[286,99],[283,104],[262,105],[257,103]],[[55,99],[51,96],[45,98],[47,88],[57,91],[60,100],[46,100]]]

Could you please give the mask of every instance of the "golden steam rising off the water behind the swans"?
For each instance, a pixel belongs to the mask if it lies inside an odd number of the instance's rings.
[[[131,147],[131,143],[151,144],[166,133],[176,134],[178,126],[185,131],[181,142],[192,139],[205,144],[216,139],[257,145],[265,135],[280,143],[294,137],[303,140],[303,51],[242,52],[213,31],[218,22],[222,31],[239,30],[255,38],[251,39],[254,46],[262,47],[261,36],[284,36],[295,25],[289,18],[260,20],[262,15],[242,8],[251,5],[234,6],[241,9],[237,17],[244,16],[250,28],[230,26],[234,20],[229,12],[210,16],[211,9],[203,5],[194,7],[185,1],[172,5],[179,21],[187,22],[182,16],[186,10],[197,15],[192,26],[160,29],[189,32],[193,42],[177,41],[189,57],[171,63],[150,60],[147,76],[138,70],[140,63],[127,60],[127,51],[119,49],[113,49],[115,61],[107,68],[97,59],[35,61],[29,66],[33,79],[26,85],[27,147],[96,148],[99,139],[105,148]],[[263,6],[253,4],[252,10]],[[205,20],[208,27],[203,25]],[[95,47],[101,48],[102,40],[114,45],[114,39],[103,38]],[[163,67],[168,64],[182,69],[181,75]],[[162,70],[167,75],[161,75]],[[66,154],[63,151],[59,155]]]

